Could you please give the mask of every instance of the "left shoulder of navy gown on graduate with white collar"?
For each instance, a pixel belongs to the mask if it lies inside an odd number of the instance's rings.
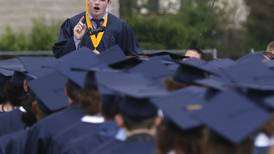
[[[52,138],[65,128],[80,121],[83,113],[79,104],[72,104],[67,109],[52,114],[37,122],[28,132],[25,154],[45,154]]]

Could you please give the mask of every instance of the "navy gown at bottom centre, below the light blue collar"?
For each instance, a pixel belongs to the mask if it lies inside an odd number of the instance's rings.
[[[128,137],[126,141],[109,142],[89,154],[154,154],[154,138],[147,134]]]

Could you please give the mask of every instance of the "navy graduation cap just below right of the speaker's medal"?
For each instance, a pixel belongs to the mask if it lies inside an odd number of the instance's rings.
[[[126,55],[118,45],[115,45],[111,48],[106,49],[104,52],[101,52],[98,55],[98,58],[103,63],[113,64],[121,60],[124,60],[126,58]]]

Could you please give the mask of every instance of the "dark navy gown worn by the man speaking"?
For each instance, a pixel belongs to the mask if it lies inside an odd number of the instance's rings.
[[[62,24],[59,39],[53,46],[53,54],[56,58],[62,57],[76,49],[73,40],[73,28],[77,25],[82,16],[85,16],[84,12],[67,19]],[[119,45],[126,55],[136,55],[141,53],[132,29],[124,21],[115,17],[111,13],[108,13],[108,23],[97,50],[103,52],[114,45]],[[91,50],[94,49],[88,33],[84,35],[80,43],[80,47],[83,46],[88,47]]]

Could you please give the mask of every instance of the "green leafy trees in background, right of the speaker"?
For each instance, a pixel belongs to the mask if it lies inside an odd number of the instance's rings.
[[[126,17],[126,20],[133,27],[142,48],[208,48],[212,47],[210,38],[216,23],[207,2],[189,1],[177,15],[137,14],[134,18]]]

